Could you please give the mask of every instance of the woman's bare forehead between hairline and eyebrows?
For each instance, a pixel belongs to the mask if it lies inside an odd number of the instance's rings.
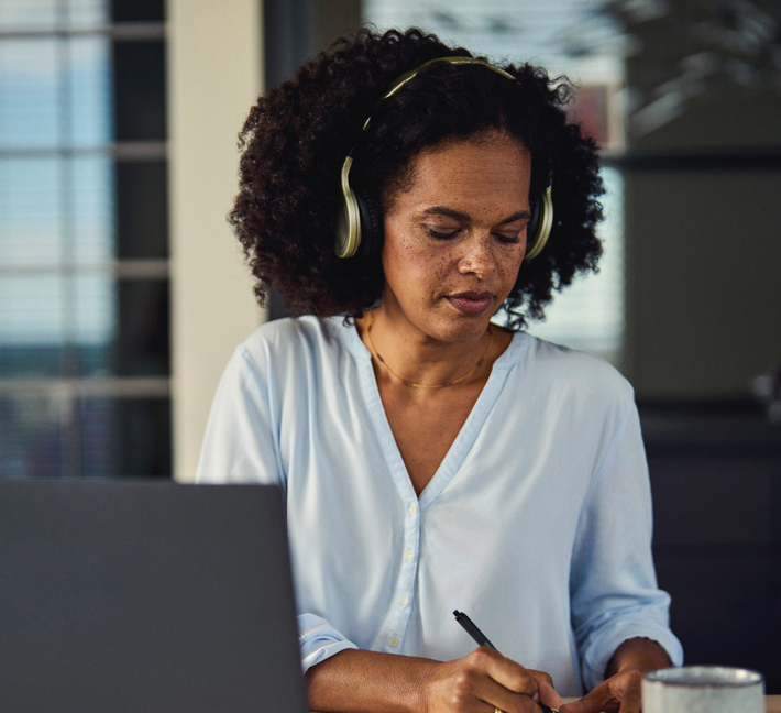
[[[393,209],[429,205],[498,210],[528,207],[531,154],[505,136],[449,141],[421,151],[409,164],[410,182]]]

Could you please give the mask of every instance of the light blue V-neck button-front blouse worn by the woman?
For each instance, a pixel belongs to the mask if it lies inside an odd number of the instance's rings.
[[[465,656],[453,610],[561,695],[627,638],[682,661],[632,391],[594,356],[516,333],[418,497],[354,326],[270,322],[226,369],[198,481],[285,490],[305,669],[353,647]]]

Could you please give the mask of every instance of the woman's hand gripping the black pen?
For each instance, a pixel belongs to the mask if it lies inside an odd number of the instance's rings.
[[[539,713],[537,702],[561,705],[551,677],[483,646],[440,663],[426,687],[428,713]]]

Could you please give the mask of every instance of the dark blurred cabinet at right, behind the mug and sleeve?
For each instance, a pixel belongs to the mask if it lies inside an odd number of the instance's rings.
[[[751,405],[642,406],[659,584],[686,663],[781,693],[781,428]]]

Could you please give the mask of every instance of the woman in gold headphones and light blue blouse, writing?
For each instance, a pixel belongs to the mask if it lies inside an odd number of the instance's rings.
[[[237,350],[199,480],[283,486],[315,710],[628,713],[681,661],[631,388],[518,331],[601,252],[565,99],[362,31],[244,127],[233,226],[261,300],[309,317]]]

